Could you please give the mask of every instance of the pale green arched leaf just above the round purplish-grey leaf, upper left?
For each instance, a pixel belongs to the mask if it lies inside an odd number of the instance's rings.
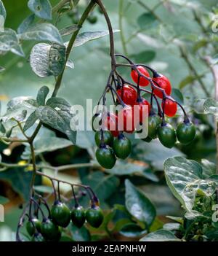
[[[21,40],[41,40],[62,44],[62,38],[58,29],[50,23],[37,23],[30,26],[23,34],[19,34]]]

